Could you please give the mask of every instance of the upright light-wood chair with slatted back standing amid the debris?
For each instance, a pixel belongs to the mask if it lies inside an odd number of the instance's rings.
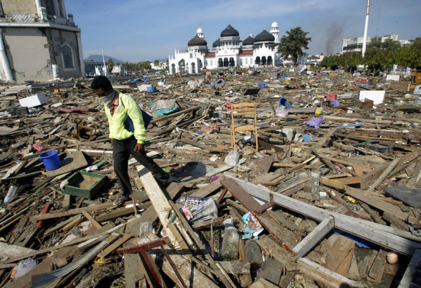
[[[241,125],[235,123],[235,117],[251,115],[253,117],[253,124]],[[231,146],[236,147],[236,132],[253,131],[256,137],[256,150],[259,150],[258,134],[257,134],[257,117],[256,117],[256,103],[242,102],[231,104]]]

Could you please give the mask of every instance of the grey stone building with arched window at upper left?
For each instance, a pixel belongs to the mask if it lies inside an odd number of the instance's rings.
[[[85,75],[81,29],[65,0],[0,0],[0,78],[5,81]]]

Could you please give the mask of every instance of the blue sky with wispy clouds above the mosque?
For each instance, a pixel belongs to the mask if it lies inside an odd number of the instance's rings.
[[[330,54],[342,38],[363,36],[367,0],[67,0],[82,29],[84,57],[104,54],[123,61],[161,59],[187,46],[201,27],[208,47],[228,22],[244,40],[275,20],[279,36],[301,26],[312,38],[310,54]],[[420,0],[371,0],[368,36],[421,36]]]

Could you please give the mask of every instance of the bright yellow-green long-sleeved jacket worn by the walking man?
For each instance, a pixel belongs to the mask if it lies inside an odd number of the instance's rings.
[[[118,96],[118,106],[113,115],[111,115],[107,105],[104,104],[105,114],[107,115],[109,123],[110,138],[124,140],[130,138],[134,134],[137,142],[143,144],[146,140],[146,129],[139,106],[129,95],[118,92]],[[126,114],[128,114],[133,121],[134,133],[124,128],[123,122]]]

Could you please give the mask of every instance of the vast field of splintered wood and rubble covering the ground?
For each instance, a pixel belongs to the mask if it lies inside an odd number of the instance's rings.
[[[119,185],[92,79],[0,88],[0,286],[408,287],[421,88],[285,69],[111,78],[152,115]]]

